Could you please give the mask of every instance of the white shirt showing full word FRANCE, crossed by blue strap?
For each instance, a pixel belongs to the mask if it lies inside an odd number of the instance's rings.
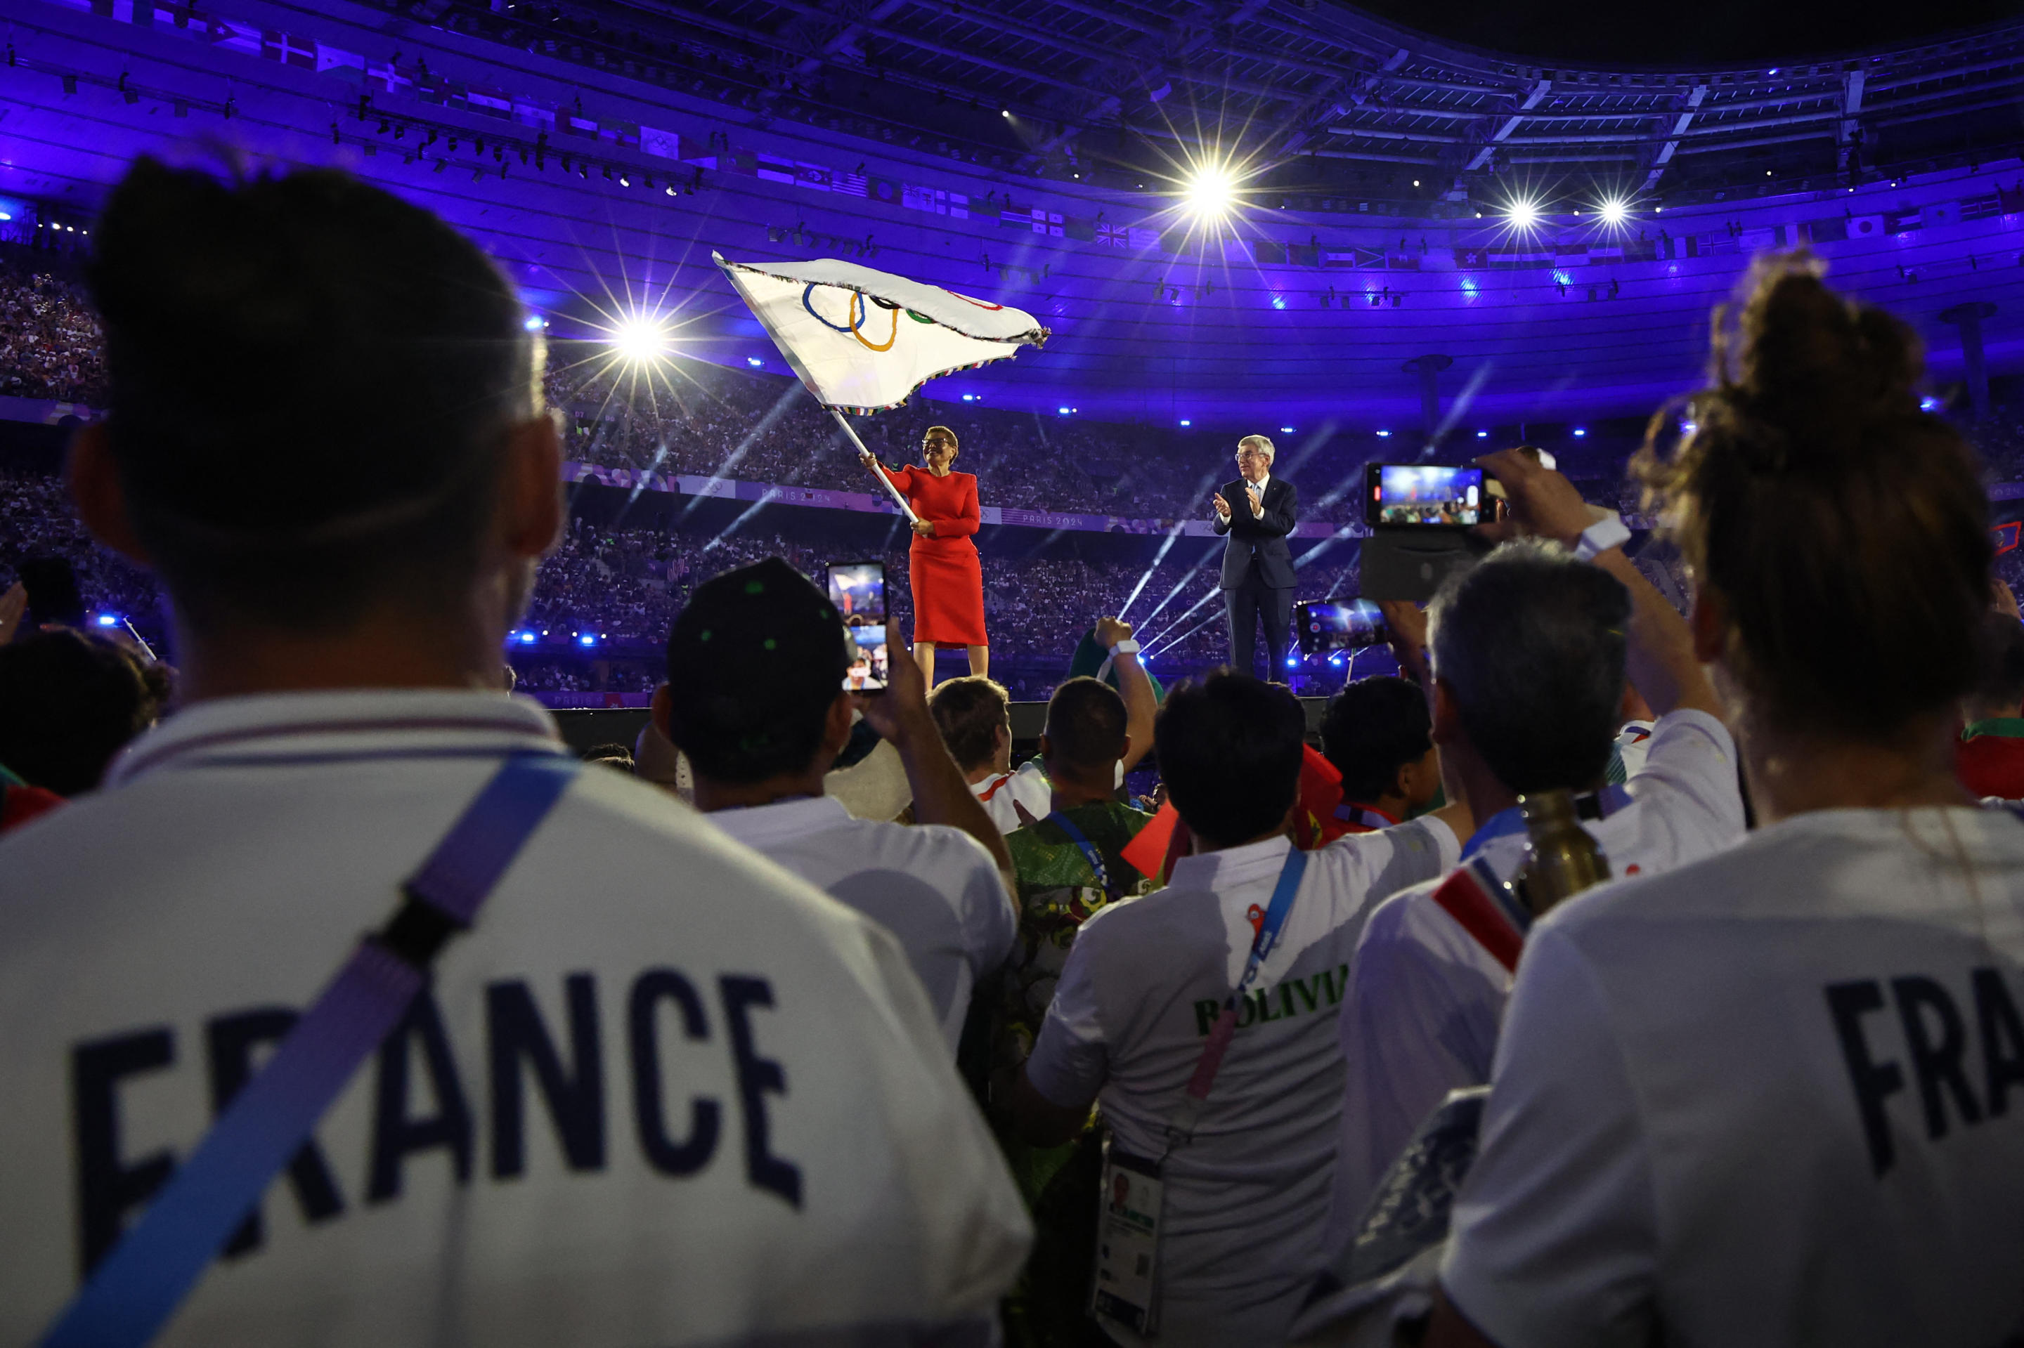
[[[200,702],[0,842],[0,1342],[32,1342],[530,700]],[[587,769],[158,1344],[751,1344],[996,1322],[1028,1220],[899,943]]]

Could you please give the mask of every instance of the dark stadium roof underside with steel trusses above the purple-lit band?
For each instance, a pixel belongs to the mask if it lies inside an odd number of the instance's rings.
[[[569,47],[601,43],[613,61],[646,43],[781,115],[876,107],[891,123],[909,91],[931,95],[933,109],[953,99],[982,111],[967,134],[929,107],[899,121],[953,136],[957,152],[990,144],[986,119],[1004,109],[1016,121],[998,130],[1018,136],[996,136],[996,148],[1026,172],[1140,144],[1174,162],[1346,160],[1441,188],[1567,166],[1654,190],[1694,164],[1763,174],[1765,160],[1801,154],[1809,172],[1860,176],[1935,146],[2016,152],[2024,101],[2024,20],[1773,69],[1629,71],[1471,51],[1330,0],[423,0],[415,10],[466,10],[451,26],[504,40],[549,34],[549,51],[559,24]],[[864,85],[880,87],[876,105]]]

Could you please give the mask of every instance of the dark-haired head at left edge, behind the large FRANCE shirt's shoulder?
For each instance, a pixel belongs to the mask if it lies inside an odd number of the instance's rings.
[[[166,700],[168,674],[103,638],[63,627],[0,646],[0,763],[57,795],[89,791]]]

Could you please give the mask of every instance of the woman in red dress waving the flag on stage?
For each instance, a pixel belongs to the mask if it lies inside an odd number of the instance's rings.
[[[931,425],[921,437],[927,468],[887,468],[872,455],[864,466],[887,480],[913,506],[913,553],[907,575],[913,583],[913,658],[935,686],[935,648],[967,646],[969,672],[990,670],[992,646],[984,636],[984,565],[978,544],[978,478],[949,472],[955,464],[955,431]]]

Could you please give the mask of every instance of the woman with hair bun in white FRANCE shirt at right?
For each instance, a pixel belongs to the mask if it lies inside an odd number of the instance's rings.
[[[1953,775],[1988,500],[1909,326],[1753,281],[1637,466],[1761,828],[1534,927],[1433,1348],[2024,1332],[2024,824]]]

